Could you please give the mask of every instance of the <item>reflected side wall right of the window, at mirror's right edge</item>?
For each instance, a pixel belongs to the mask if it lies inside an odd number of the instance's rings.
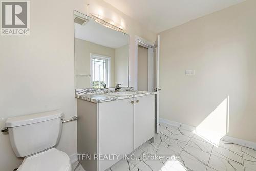
[[[128,86],[129,45],[115,49],[115,84]]]

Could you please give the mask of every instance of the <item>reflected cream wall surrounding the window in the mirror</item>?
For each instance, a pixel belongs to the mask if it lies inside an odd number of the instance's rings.
[[[115,49],[75,38],[75,72],[89,75],[91,73],[91,53],[110,57],[110,87],[115,85]],[[128,56],[127,56],[128,58]],[[128,66],[128,65],[127,65]],[[127,74],[126,74],[127,77]],[[88,76],[76,75],[76,89],[90,88]]]

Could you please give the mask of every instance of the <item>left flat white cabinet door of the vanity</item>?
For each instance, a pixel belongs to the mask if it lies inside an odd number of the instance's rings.
[[[99,154],[129,154],[133,151],[133,98],[99,103]],[[117,160],[100,160],[104,171]]]

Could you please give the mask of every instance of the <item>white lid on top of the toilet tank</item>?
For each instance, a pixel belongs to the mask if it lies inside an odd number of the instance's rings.
[[[44,122],[44,121],[60,118],[62,116],[63,116],[63,112],[60,110],[17,116],[17,117],[8,118],[5,122],[5,127],[24,126],[28,124]]]

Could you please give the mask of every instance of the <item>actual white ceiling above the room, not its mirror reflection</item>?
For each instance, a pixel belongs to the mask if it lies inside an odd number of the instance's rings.
[[[245,0],[104,0],[159,33]]]

